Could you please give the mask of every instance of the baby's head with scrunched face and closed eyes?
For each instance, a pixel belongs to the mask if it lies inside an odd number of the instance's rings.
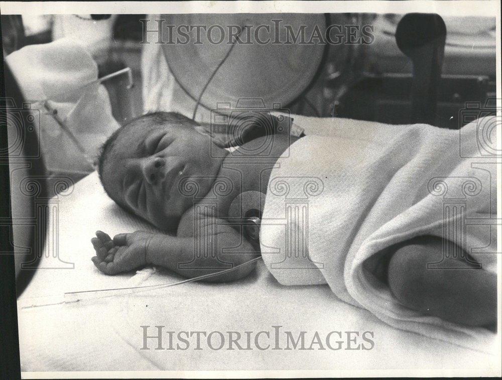
[[[116,130],[104,143],[98,173],[108,196],[161,230],[173,230],[193,199],[179,192],[182,178],[206,195],[221,160],[211,157],[211,139],[183,115],[155,112]]]

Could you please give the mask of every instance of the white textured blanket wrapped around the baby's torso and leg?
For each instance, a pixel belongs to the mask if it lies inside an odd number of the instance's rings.
[[[298,121],[307,136],[273,169],[262,219],[262,256],[274,277],[327,283],[396,328],[489,350],[495,334],[400,305],[367,264],[376,266],[369,259],[391,245],[433,235],[496,273],[494,117],[460,131],[379,123],[314,131],[329,136],[309,134]]]

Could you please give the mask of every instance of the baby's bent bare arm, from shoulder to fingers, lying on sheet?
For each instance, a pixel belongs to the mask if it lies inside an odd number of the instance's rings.
[[[113,240],[98,231],[92,239],[96,256],[92,261],[103,273],[114,275],[153,264],[193,278],[244,264],[235,270],[209,277],[206,281],[233,281],[247,276],[259,254],[228,224],[221,220],[200,220],[203,233],[194,236],[169,236],[137,231],[118,234]],[[209,231],[209,232],[208,232]],[[229,251],[230,252],[224,252]],[[185,265],[183,265],[185,264]]]

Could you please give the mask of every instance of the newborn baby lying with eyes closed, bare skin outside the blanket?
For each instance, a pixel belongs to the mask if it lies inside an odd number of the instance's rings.
[[[237,152],[259,151],[267,139],[248,139]],[[277,134],[267,140],[271,146],[263,158],[247,156],[243,164],[245,154],[230,154],[225,141],[176,113],[147,114],[124,125],[103,146],[98,169],[103,187],[119,206],[170,235],[137,231],[111,239],[98,231],[92,239],[93,263],[108,275],[151,264],[189,278],[221,272],[207,281],[247,276],[260,256],[257,234],[249,231],[263,210],[235,223],[230,206],[241,194],[266,194],[270,157],[279,157],[297,139]],[[224,196],[217,187],[222,178],[230,182]],[[196,194],[183,191],[187,183],[196,185]],[[194,207],[194,197],[215,207]],[[476,269],[426,269],[426,263],[441,257],[440,239],[418,237],[372,259],[379,261],[376,275],[403,305],[448,321],[493,328],[496,276]],[[468,262],[461,265],[469,267]]]

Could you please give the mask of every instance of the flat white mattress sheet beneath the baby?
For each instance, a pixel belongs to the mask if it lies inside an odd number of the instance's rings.
[[[325,121],[295,118],[311,130]],[[338,122],[338,121],[337,121]],[[340,121],[342,122],[342,121]],[[343,120],[347,129],[361,122]],[[307,129],[307,128],[306,128]],[[18,301],[23,371],[155,370],[155,369],[469,369],[493,373],[497,357],[398,330],[370,312],[337,299],[326,285],[278,284],[259,262],[257,271],[232,284],[190,283],[122,297],[73,304],[63,293],[136,284],[137,277],[108,277],[90,261],[95,230],[110,235],[149,227],[127,215],[104,194],[96,173],[59,199],[59,255],[74,269],[39,269]],[[48,263],[44,258],[42,264]],[[53,263],[53,262],[52,262]],[[42,265],[44,266],[44,265]],[[179,277],[156,272],[143,284],[172,282]],[[272,331],[282,325],[294,334],[307,331],[373,331],[371,350],[140,350],[141,325],[166,330]],[[284,337],[281,346],[285,346]],[[491,372],[490,372],[491,371]],[[29,376],[29,373],[25,373]],[[68,375],[64,375],[68,378]]]

